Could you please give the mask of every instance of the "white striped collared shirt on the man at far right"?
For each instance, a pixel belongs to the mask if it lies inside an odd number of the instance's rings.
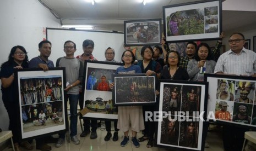
[[[240,54],[228,50],[222,54],[217,61],[214,73],[252,75],[256,73],[256,53],[243,48]]]

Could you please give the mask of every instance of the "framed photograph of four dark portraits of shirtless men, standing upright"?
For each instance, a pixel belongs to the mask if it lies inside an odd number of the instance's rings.
[[[160,80],[156,146],[204,150],[208,83]]]

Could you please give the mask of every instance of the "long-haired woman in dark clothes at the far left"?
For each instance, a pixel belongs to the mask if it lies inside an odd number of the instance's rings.
[[[8,61],[4,62],[1,66],[0,78],[2,82],[2,100],[4,106],[6,107],[7,113],[9,115],[9,130],[13,133],[13,142],[15,150],[21,150],[19,147],[19,137],[18,137],[18,114],[19,111],[18,100],[13,95],[13,92],[17,90],[14,84],[14,70],[28,68],[29,60],[28,55],[24,47],[17,45],[10,50]],[[21,146],[26,149],[32,149],[29,142],[21,142]]]

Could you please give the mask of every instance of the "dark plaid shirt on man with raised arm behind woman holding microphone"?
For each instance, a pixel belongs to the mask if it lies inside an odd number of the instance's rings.
[[[216,57],[216,56],[218,56],[218,54],[220,54],[221,44],[222,43],[217,42],[215,45],[215,48],[213,50],[211,50],[211,53],[213,54],[214,57]],[[192,59],[195,59],[195,57],[194,56],[192,58],[189,58],[188,56],[181,57],[181,61],[179,61],[179,67],[187,69],[188,61],[190,61]]]

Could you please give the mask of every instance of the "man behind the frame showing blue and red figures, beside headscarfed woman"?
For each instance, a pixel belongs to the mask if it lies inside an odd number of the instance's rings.
[[[97,59],[92,55],[92,51],[94,51],[94,41],[90,39],[86,39],[83,42],[83,50],[84,53],[77,56],[77,58],[85,61],[85,60],[91,60],[91,61],[97,61]],[[80,85],[80,96],[79,96],[79,106],[80,109],[83,109],[84,107],[84,98],[83,98],[83,93],[82,93],[82,88]],[[91,133],[90,138],[95,139],[97,138],[97,120],[90,120],[87,118],[83,118],[84,120],[84,130],[80,134],[80,137],[85,137]],[[91,126],[91,131],[90,131],[90,126]]]

